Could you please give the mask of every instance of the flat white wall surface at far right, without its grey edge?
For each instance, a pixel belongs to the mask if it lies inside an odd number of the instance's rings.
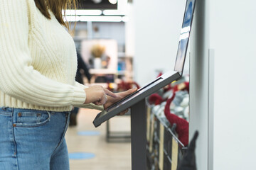
[[[256,1],[210,0],[214,169],[256,169]]]

